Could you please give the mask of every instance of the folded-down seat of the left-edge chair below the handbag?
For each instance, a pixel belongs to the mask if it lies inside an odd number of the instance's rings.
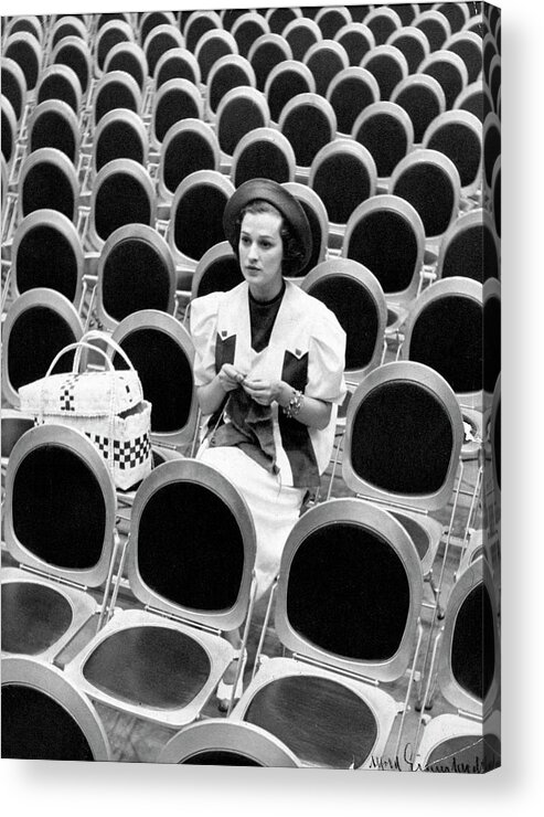
[[[2,577],[2,654],[53,660],[95,614],[95,600],[8,569]]]

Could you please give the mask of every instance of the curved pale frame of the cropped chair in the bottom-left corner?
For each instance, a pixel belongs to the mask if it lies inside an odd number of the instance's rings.
[[[95,761],[111,761],[111,750],[98,714],[77,687],[51,665],[32,658],[2,659],[2,687],[20,685],[46,694],[73,718]]]

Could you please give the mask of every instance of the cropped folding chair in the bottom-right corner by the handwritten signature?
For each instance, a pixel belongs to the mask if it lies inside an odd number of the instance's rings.
[[[440,714],[416,735],[414,767],[429,772],[482,773],[500,765],[500,643],[494,587],[486,559],[458,579],[448,600],[434,661],[438,686],[456,710]],[[433,676],[429,675],[427,694]],[[424,710],[422,710],[423,713]]]

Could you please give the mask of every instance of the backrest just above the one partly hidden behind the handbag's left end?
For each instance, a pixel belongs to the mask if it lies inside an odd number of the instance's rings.
[[[55,210],[35,210],[19,224],[11,250],[12,293],[46,287],[62,293],[76,307],[83,285],[79,234]]]

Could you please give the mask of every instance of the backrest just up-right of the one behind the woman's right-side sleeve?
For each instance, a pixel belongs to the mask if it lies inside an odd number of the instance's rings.
[[[417,211],[396,195],[378,195],[359,205],[345,227],[342,256],[367,267],[386,296],[416,297],[425,252]]]

